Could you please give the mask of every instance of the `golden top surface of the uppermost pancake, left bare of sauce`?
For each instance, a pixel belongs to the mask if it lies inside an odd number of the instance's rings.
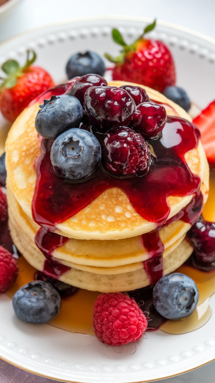
[[[124,82],[111,82],[109,85],[121,86]],[[178,115],[190,121],[189,115],[167,100],[160,93],[146,88],[149,97],[166,106],[169,115]],[[26,108],[11,127],[6,144],[7,182],[22,209],[31,216],[31,203],[34,194],[36,172],[35,159],[40,154],[40,142],[34,121],[39,110],[35,104]],[[192,173],[202,179],[207,160],[199,146],[185,154],[185,160]],[[168,196],[169,217],[178,213],[192,199],[187,196]],[[66,236],[80,239],[118,239],[132,237],[156,228],[154,222],[142,218],[131,205],[128,196],[118,187],[112,187],[100,194],[88,206],[74,214],[56,228]]]

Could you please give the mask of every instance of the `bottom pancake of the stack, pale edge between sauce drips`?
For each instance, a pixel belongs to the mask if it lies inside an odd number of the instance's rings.
[[[9,210],[9,216],[10,216]],[[19,229],[13,219],[9,221],[9,228],[11,237],[20,250],[21,254],[25,257],[27,262],[39,271],[44,270],[46,258],[38,248],[28,241],[28,237],[23,235],[23,231]],[[189,242],[184,239],[179,246],[176,247],[169,255],[163,259],[163,275],[173,272],[187,260],[192,253],[193,248]],[[147,261],[144,261],[147,262]],[[151,283],[148,273],[144,269],[144,262],[142,268],[132,270],[119,274],[99,274],[92,273],[77,268],[71,268],[58,279],[69,285],[79,288],[100,292],[115,292],[135,290]]]

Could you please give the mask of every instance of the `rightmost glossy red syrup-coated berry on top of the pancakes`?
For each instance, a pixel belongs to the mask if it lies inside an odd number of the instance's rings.
[[[137,106],[132,127],[146,139],[156,139],[166,124],[166,110],[162,105],[144,102]]]

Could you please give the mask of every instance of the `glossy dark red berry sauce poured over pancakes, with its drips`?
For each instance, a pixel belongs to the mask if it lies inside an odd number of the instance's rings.
[[[70,88],[71,85],[68,84],[67,87]],[[64,92],[66,92],[65,87]],[[59,93],[63,93],[61,88]],[[57,94],[56,88],[55,94]],[[44,94],[43,97],[48,96]],[[39,100],[39,102],[42,101]],[[64,182],[61,177],[57,177],[53,173],[50,164],[53,141],[43,139],[41,155],[35,162],[36,186],[32,201],[32,214],[34,221],[45,229],[41,229],[36,235],[36,244],[47,258],[44,273],[50,277],[55,275],[57,278],[57,275],[62,275],[68,270],[68,267],[66,269],[64,265],[61,270],[59,262],[51,259],[53,250],[61,246],[62,241],[58,238],[61,236],[52,233],[56,224],[71,218],[108,188],[118,187],[123,190],[136,212],[148,221],[156,223],[158,229],[176,219],[184,219],[185,222],[190,223],[195,221],[202,209],[201,182],[198,176],[190,173],[184,160],[184,154],[197,147],[199,138],[199,130],[194,125],[179,117],[168,117],[162,130],[162,136],[150,142],[156,155],[156,161],[151,164],[146,175],[118,178],[101,166],[93,176],[80,183]],[[175,217],[167,220],[170,212],[167,197],[190,194],[195,195],[191,203]],[[158,231],[143,234],[142,237],[144,247],[151,255],[144,262],[144,268],[149,275],[150,282],[154,284],[162,277],[164,247],[159,239]],[[64,239],[67,240],[65,237]],[[57,262],[55,271],[53,271],[53,261]]]

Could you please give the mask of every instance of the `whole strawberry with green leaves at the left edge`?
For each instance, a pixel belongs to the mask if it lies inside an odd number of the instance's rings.
[[[32,59],[29,58],[30,53],[33,54]],[[23,67],[15,60],[2,65],[8,77],[1,78],[0,111],[10,122],[15,121],[31,100],[54,86],[53,79],[43,68],[31,66],[35,59],[35,52],[28,50]]]

